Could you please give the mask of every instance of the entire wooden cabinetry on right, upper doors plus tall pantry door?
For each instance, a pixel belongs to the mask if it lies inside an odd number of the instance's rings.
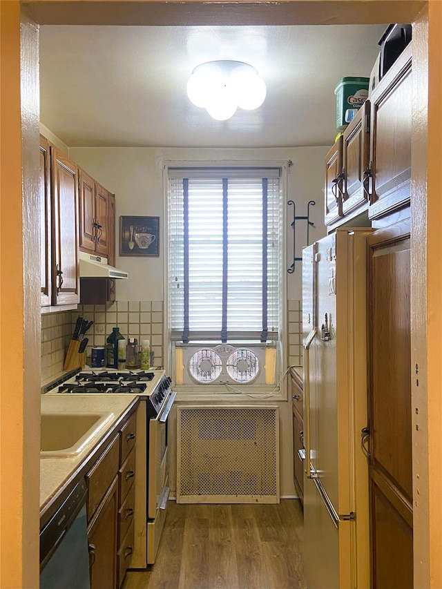
[[[410,199],[412,44],[325,161],[325,223],[367,238],[367,428],[372,587],[413,587]]]

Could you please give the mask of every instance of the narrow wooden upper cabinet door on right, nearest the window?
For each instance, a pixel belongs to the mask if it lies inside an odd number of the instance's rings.
[[[340,135],[325,157],[325,224],[332,225],[343,216],[340,186],[343,181],[343,136]]]

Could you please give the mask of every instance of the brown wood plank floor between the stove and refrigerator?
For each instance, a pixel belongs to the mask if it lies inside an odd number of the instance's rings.
[[[123,589],[305,589],[300,501],[177,505],[171,501],[150,570]]]

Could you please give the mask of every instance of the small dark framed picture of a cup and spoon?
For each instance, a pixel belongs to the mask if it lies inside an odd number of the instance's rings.
[[[160,217],[120,217],[119,255],[160,255]]]

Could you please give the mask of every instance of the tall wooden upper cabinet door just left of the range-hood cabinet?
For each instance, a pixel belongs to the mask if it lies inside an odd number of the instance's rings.
[[[52,184],[52,305],[79,302],[77,164],[50,147]]]

